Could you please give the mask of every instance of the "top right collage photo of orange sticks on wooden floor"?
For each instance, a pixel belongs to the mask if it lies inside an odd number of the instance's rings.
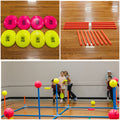
[[[62,1],[61,58],[119,59],[119,1]]]

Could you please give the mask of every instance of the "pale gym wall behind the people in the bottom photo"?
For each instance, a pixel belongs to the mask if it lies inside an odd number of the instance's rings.
[[[51,85],[51,79],[67,70],[74,83],[73,91],[79,97],[106,97],[105,75],[111,70],[119,77],[119,63],[116,61],[27,61],[2,62],[2,90],[8,90],[7,97],[37,96],[33,86],[36,80]],[[52,96],[52,90],[41,88],[41,96]]]

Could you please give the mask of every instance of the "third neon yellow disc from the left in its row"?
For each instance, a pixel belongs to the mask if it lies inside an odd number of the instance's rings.
[[[45,36],[42,31],[35,30],[31,33],[31,45],[35,48],[41,48],[45,45]]]

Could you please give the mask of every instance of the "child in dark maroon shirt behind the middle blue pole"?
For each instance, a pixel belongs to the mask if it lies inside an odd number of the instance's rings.
[[[51,88],[53,88],[53,104],[55,104],[55,95],[56,95],[56,85],[52,80],[52,85]],[[57,84],[57,93],[60,97],[60,91],[61,91],[61,86],[59,84]]]

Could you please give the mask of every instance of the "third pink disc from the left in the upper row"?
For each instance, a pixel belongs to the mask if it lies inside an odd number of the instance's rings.
[[[33,16],[31,19],[31,26],[35,30],[40,30],[44,26],[44,21],[40,16]]]

